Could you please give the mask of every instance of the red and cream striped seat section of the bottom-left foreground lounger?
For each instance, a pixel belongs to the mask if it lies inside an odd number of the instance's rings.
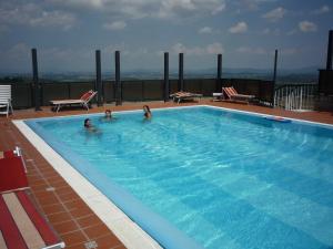
[[[37,210],[27,190],[0,195],[1,249],[58,249],[64,243]]]

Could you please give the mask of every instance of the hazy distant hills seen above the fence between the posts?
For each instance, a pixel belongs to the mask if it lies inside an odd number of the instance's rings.
[[[317,82],[317,70],[319,66],[307,66],[300,69],[280,69],[278,70],[278,82],[280,83],[310,83]],[[204,69],[204,70],[185,70],[185,79],[203,77],[212,79],[216,76],[216,69]],[[46,72],[40,73],[40,79],[43,81],[92,81],[95,77],[94,72],[64,72],[64,73],[52,73]],[[104,80],[113,80],[114,74],[111,72],[104,72],[102,77]],[[130,70],[122,71],[121,77],[123,80],[143,80],[143,79],[163,79],[163,69],[160,70]],[[222,77],[224,79],[261,79],[272,80],[272,69],[230,69],[225,68],[222,70]],[[170,70],[170,79],[178,79],[178,69]],[[0,73],[1,82],[9,81],[30,81],[31,74],[28,73]]]

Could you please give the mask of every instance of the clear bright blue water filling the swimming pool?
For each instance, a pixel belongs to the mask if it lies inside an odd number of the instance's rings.
[[[27,123],[205,248],[333,248],[332,128],[208,106],[101,115],[100,134],[84,116]]]

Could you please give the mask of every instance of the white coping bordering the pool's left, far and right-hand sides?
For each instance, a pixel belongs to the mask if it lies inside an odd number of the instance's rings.
[[[193,107],[210,107],[216,110],[224,110],[233,113],[242,113],[251,116],[274,116],[270,114],[262,114],[255,112],[240,111],[226,107],[219,107],[213,105],[192,105],[192,106],[175,106],[175,107],[162,107],[155,110],[170,110],[170,108],[193,108]],[[114,113],[133,113],[140,112],[140,110],[120,111]],[[19,128],[19,131],[28,138],[28,141],[42,154],[42,156],[50,163],[50,165],[64,178],[64,180],[78,193],[84,203],[93,210],[94,214],[112,230],[115,236],[128,248],[161,248],[148,232],[145,232],[135,221],[129,218],[120,208],[118,208],[104,194],[102,194],[93,184],[91,184],[81,173],[70,165],[58,152],[56,152],[46,141],[43,141],[34,131],[29,127],[24,121],[42,121],[54,118],[72,118],[82,116],[100,116],[101,113],[94,114],[78,114],[69,116],[57,117],[41,117],[41,118],[26,118],[16,120],[12,123]],[[319,125],[323,127],[333,128],[333,125],[311,122],[297,118],[287,120],[296,123],[306,123],[312,125]],[[167,232],[161,229],[161,232]],[[169,230],[168,230],[169,231]],[[170,231],[169,231],[170,232]],[[171,232],[172,234],[172,232]],[[185,239],[186,241],[186,239]],[[168,242],[167,242],[168,243]],[[140,246],[139,246],[140,245]],[[196,245],[196,243],[195,243]],[[184,248],[184,243],[180,242],[179,246],[171,243],[171,246],[163,245],[168,248]],[[193,246],[193,245],[191,245]],[[185,247],[188,248],[188,247]],[[200,248],[200,247],[199,247]]]

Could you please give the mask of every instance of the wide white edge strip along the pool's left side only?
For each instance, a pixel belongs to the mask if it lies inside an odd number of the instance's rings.
[[[162,248],[22,120],[12,123],[127,248]]]

